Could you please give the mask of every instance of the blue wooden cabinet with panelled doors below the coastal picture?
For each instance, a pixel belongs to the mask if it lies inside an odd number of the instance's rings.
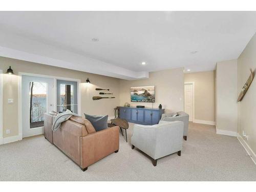
[[[152,125],[158,124],[164,109],[153,108],[135,108],[120,106],[120,118],[126,119],[128,122]]]

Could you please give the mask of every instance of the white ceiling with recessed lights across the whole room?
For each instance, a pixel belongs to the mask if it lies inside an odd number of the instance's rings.
[[[178,67],[213,70],[217,61],[238,58],[256,32],[256,12],[0,12],[0,18],[2,56],[22,51],[19,59],[124,79]]]

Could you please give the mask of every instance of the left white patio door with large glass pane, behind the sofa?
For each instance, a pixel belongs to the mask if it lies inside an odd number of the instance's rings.
[[[22,76],[23,137],[44,133],[44,113],[54,110],[54,79]]]

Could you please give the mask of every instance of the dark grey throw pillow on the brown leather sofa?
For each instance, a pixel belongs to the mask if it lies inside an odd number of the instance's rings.
[[[108,128],[108,115],[105,116],[96,116],[96,115],[88,115],[84,113],[84,116],[86,116],[86,119],[88,119],[96,132],[104,130]]]

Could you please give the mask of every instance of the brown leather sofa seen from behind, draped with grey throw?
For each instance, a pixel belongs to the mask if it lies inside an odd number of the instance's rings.
[[[100,159],[119,150],[119,127],[96,132],[93,125],[82,117],[70,117],[52,132],[55,116],[45,114],[45,138],[78,164],[83,171]]]

